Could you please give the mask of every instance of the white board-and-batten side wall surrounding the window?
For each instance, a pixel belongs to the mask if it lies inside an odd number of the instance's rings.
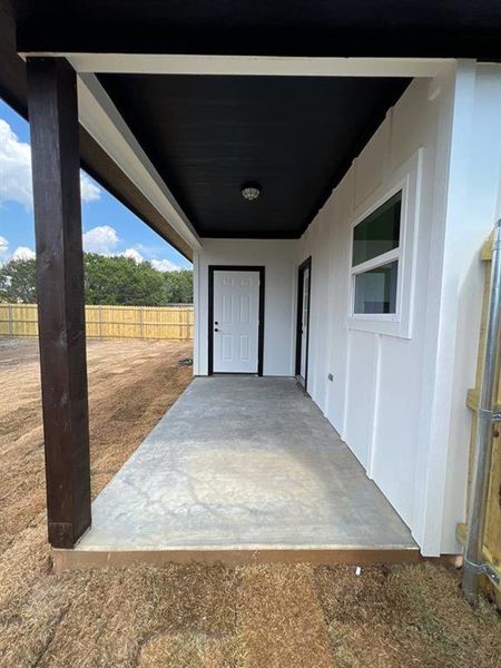
[[[327,299],[312,299],[310,393],[411,529],[416,525],[429,258],[432,230],[443,227],[439,203],[444,198],[446,161],[439,167],[438,138],[441,115],[452,98],[449,87],[430,101],[429,90],[425,79],[410,86],[310,226],[298,255],[298,262],[312,256],[313,295],[321,285],[328,292]],[[352,223],[370,209],[374,193],[374,200],[384,199],[385,190],[390,194],[392,176],[402,164],[419,159],[415,289],[413,297],[404,296],[413,301],[411,331],[384,334],[374,325],[372,332],[371,323],[369,331],[354,328],[357,323],[348,318]]]

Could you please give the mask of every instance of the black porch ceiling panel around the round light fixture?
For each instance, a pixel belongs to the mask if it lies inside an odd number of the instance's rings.
[[[200,236],[299,236],[409,84],[100,76]],[[255,203],[240,186],[262,185]]]

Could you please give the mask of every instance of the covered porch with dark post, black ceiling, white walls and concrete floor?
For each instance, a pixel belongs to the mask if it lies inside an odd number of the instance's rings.
[[[389,23],[358,2],[343,41],[334,3],[272,2],[256,26],[237,2],[223,33],[202,6],[186,22],[169,3],[59,4],[13,2],[0,40],[0,92],[31,126],[48,534],[70,550],[57,559],[414,558],[390,503],[424,556],[458,552],[474,259],[501,183],[491,14],[472,10],[468,35],[449,9],[430,32],[425,7]],[[214,272],[258,271],[265,376],[196,379],[92,511],[81,165],[193,261],[195,374],[218,370]],[[395,197],[385,236],[374,214]]]

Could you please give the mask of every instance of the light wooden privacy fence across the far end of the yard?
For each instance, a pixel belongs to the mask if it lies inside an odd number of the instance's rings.
[[[193,338],[193,304],[86,306],[89,338]],[[37,336],[36,304],[0,304],[0,336]]]

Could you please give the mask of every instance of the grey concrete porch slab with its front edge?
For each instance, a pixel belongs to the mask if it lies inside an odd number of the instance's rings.
[[[412,561],[418,546],[292,377],[197,377],[57,567]]]

